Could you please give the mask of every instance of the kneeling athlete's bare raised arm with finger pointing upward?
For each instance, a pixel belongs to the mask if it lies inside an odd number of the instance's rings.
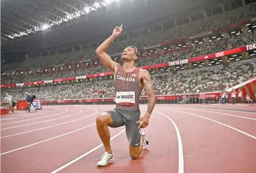
[[[109,36],[109,38],[106,39],[104,42],[102,42],[102,44],[100,44],[100,46],[95,50],[100,61],[102,61],[102,64],[112,72],[115,72],[119,64],[117,64],[110,58],[110,56],[106,53],[106,50],[108,50],[110,44],[122,33],[122,27],[123,25],[121,25],[120,27],[117,26],[113,30],[112,35]]]

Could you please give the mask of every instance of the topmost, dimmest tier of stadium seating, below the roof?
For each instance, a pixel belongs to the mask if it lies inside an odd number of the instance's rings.
[[[251,19],[256,15],[256,2],[253,2],[245,7],[235,8],[234,10],[221,13],[219,15],[210,16],[207,19],[193,21],[188,24],[180,25],[179,27],[167,29],[161,32],[153,32],[148,35],[142,35],[140,38],[125,39],[112,44],[109,48],[109,55],[120,53],[126,46],[133,44],[138,48],[144,46],[153,46],[161,42],[171,41],[180,38],[194,36],[196,34],[220,29],[236,22]],[[96,58],[96,47],[77,50],[75,52],[61,53],[52,56],[43,56],[37,58],[26,58],[22,63],[6,64],[7,70],[27,69],[30,67],[47,67],[50,65],[72,63],[74,61],[85,61],[91,58]]]

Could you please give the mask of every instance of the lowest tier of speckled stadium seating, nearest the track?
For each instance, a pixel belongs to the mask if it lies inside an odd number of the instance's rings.
[[[255,57],[256,58],[256,57]],[[242,63],[242,62],[240,62]],[[224,90],[250,78],[256,77],[256,61],[252,63],[234,65],[230,67],[215,66],[211,69],[199,69],[196,72],[184,71],[177,75],[153,75],[153,84],[156,95],[170,95],[175,93],[195,93],[208,92],[213,90]],[[95,92],[97,89],[97,92]],[[103,94],[102,92],[106,92]],[[25,97],[25,92],[33,93],[36,98],[41,100],[69,100],[79,98],[107,98],[114,97],[113,80],[97,81],[87,84],[66,84],[36,87],[25,90],[4,90],[1,92],[1,98],[5,93],[9,93],[15,99]],[[145,95],[145,90],[142,91]]]

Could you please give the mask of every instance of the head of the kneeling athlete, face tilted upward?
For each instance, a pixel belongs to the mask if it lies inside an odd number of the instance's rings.
[[[136,62],[137,59],[139,59],[139,51],[137,50],[137,48],[135,46],[129,46],[126,47],[123,50],[122,53],[122,58],[123,61],[134,61]]]

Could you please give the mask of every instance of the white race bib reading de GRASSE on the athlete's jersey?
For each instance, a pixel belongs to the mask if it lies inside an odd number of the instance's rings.
[[[135,104],[135,93],[134,91],[117,92],[115,101],[123,106],[133,106]]]

